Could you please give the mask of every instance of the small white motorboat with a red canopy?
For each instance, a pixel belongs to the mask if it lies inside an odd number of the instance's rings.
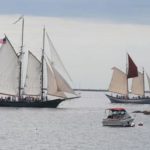
[[[103,119],[103,126],[132,127],[133,118],[124,108],[109,108],[105,110],[106,118]]]

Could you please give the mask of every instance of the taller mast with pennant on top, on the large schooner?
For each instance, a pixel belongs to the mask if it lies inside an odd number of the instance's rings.
[[[21,36],[21,47],[20,47],[20,54],[19,54],[19,100],[21,99],[22,95],[22,55],[23,55],[23,40],[24,40],[24,17],[19,18],[22,19],[22,36]],[[19,21],[18,20],[18,21]],[[18,22],[17,21],[17,22]]]

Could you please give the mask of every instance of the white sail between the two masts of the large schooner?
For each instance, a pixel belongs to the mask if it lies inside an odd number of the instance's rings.
[[[40,61],[31,52],[29,52],[24,94],[40,95],[41,93],[40,74],[41,74]]]

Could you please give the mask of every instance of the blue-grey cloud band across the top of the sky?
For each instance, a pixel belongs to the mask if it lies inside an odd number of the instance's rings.
[[[0,0],[0,13],[150,23],[149,0]]]

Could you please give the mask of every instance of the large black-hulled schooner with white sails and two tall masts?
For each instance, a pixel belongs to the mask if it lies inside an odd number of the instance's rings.
[[[41,60],[28,51],[26,71],[23,68],[22,45],[17,54],[5,35],[0,48],[0,107],[50,107],[56,108],[61,102],[78,96],[65,78],[55,68],[45,53],[45,27]],[[56,52],[55,52],[56,53]],[[24,75],[25,74],[25,75]],[[23,75],[25,81],[23,82]],[[70,93],[72,96],[66,95]],[[52,99],[53,98],[53,99]]]

